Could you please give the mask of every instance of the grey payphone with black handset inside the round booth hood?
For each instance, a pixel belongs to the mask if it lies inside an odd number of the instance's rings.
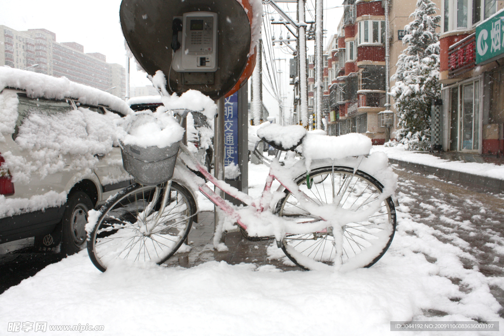
[[[174,30],[174,49],[172,69],[176,72],[215,72],[217,71],[217,14],[211,12],[184,13],[175,17],[182,20],[182,31]],[[177,21],[178,23],[179,21]],[[179,24],[173,24],[173,27]],[[175,40],[175,34],[177,39]],[[174,48],[180,43],[180,48]],[[176,50],[175,50],[176,49]]]

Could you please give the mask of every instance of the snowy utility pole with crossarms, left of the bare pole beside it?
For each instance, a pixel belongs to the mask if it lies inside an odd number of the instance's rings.
[[[297,13],[299,21],[299,85],[301,96],[301,118],[302,125],[308,125],[308,92],[306,88],[306,23],[304,22],[304,0],[298,0]]]

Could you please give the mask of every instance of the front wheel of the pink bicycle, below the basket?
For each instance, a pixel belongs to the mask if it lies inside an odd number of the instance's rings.
[[[135,183],[119,191],[101,208],[101,215],[88,242],[88,254],[102,272],[115,260],[161,264],[187,237],[196,213],[193,195],[172,182],[161,215],[165,183],[144,186]]]

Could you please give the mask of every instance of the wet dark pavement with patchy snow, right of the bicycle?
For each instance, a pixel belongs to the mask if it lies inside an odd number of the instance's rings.
[[[473,260],[461,259],[465,268],[477,267],[485,277],[504,277],[504,195],[402,168],[396,167],[395,172],[399,175],[396,192],[410,199],[405,204],[415,222],[438,230],[439,241],[473,256]],[[460,279],[450,280],[463,289]],[[504,307],[504,291],[497,286],[490,286],[490,291]],[[504,317],[504,309],[499,315]]]

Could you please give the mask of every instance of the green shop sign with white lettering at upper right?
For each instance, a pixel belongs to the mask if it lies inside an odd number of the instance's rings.
[[[476,27],[476,64],[489,63],[504,53],[504,12]]]

